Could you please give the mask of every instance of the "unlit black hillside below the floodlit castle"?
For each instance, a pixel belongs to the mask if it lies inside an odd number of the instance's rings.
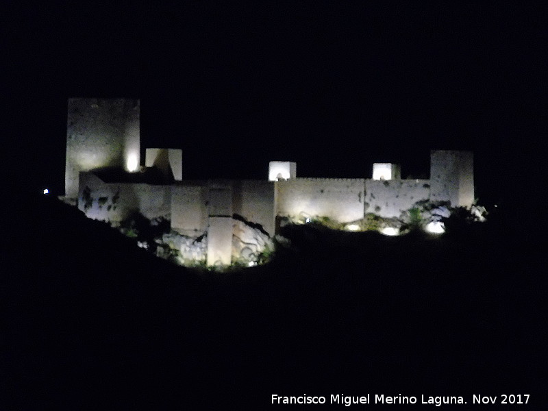
[[[285,227],[292,247],[270,264],[198,273],[56,199],[15,197],[6,409],[261,409],[304,393],[542,403],[545,257],[509,215],[442,238]]]

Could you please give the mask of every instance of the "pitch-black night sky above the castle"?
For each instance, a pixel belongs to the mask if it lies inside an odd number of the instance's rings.
[[[32,164],[32,190],[62,194],[66,99],[133,97],[142,150],[182,148],[184,178],[263,179],[271,160],[297,162],[299,177],[371,177],[373,162],[427,177],[430,149],[468,149],[477,197],[499,201],[544,164],[546,12],[440,1],[8,10],[8,160]]]

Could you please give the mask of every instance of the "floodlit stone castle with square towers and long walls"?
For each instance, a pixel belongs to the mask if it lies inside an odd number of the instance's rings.
[[[145,153],[140,166],[139,100],[69,99],[66,201],[114,225],[140,212],[168,219],[193,243],[207,234],[208,266],[231,264],[246,248],[248,258],[256,257],[260,250],[242,239],[243,225],[266,237],[284,219],[328,218],[352,229],[366,214],[398,218],[419,201],[471,207],[474,200],[470,151],[432,151],[429,179],[402,179],[399,166],[387,163],[373,164],[371,178],[303,178],[295,162],[273,161],[268,179],[199,181],[183,179],[181,149]]]

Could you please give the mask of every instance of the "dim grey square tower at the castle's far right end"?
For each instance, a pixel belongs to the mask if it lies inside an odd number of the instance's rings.
[[[472,151],[430,152],[430,200],[450,201],[451,206],[471,207],[474,202]]]

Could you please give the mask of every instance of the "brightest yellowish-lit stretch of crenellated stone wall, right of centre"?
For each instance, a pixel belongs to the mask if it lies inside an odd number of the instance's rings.
[[[364,216],[364,179],[297,178],[276,182],[277,215],[326,216],[340,223]]]

